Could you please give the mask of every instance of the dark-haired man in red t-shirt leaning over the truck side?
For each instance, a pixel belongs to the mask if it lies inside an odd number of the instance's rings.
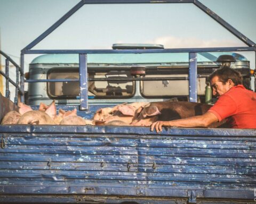
[[[239,72],[222,67],[210,75],[213,95],[218,101],[203,115],[174,121],[157,121],[151,125],[156,132],[162,126],[207,127],[226,118],[230,128],[256,129],[256,93],[242,85]]]

